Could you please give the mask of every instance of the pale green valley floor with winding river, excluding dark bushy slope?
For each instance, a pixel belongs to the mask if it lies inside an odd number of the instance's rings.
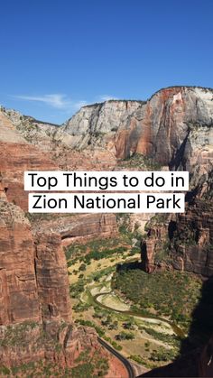
[[[163,316],[163,313],[160,316],[156,306],[155,309],[146,307],[143,310],[140,306],[135,306],[131,296],[114,289],[115,280],[119,281],[117,267],[137,263],[140,254],[139,249],[131,245],[131,241],[110,239],[105,242],[95,241],[84,246],[76,244],[68,249],[74,320],[95,327],[99,337],[106,339],[130,361],[142,364],[147,369],[168,364],[179,355],[181,338],[186,336],[186,325],[178,321],[174,324],[172,318]],[[115,244],[118,245],[116,248]],[[107,253],[104,253],[106,250]],[[100,254],[97,255],[96,251]],[[71,258],[71,255],[75,257]],[[92,258],[94,255],[95,258]],[[128,274],[128,270],[126,272]],[[184,286],[185,280],[181,281],[181,272],[177,274],[177,280]],[[165,280],[165,277],[162,276],[162,279]],[[134,281],[132,277],[131,280]],[[129,288],[131,280],[128,281]],[[199,282],[196,281],[196,284],[199,289]],[[191,288],[194,290],[194,285]],[[152,291],[152,288],[149,290]],[[194,293],[193,290],[190,290],[191,293]]]

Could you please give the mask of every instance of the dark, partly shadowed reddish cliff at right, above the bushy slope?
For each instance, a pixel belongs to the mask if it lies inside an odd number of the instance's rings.
[[[196,199],[185,213],[153,220],[141,245],[145,272],[177,269],[204,277],[213,274],[212,202]]]

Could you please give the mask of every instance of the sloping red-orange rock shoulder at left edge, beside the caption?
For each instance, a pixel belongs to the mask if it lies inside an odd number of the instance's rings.
[[[2,186],[10,202],[28,209],[27,192],[23,190],[24,171],[57,170],[47,152],[28,143],[15,125],[0,112],[0,172]]]

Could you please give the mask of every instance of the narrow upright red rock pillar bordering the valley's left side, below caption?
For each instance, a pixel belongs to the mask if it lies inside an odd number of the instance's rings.
[[[43,232],[34,235],[35,274],[42,319],[71,321],[67,263],[60,235]]]

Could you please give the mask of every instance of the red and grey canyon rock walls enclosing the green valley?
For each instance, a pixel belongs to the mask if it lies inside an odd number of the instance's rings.
[[[29,214],[23,171],[157,171],[157,167],[190,171],[184,214],[132,215],[126,227],[143,233],[145,272],[174,269],[205,280],[213,275],[212,101],[209,88],[165,88],[147,101],[83,106],[60,127],[1,108],[2,365],[43,360],[72,367],[89,348],[91,355],[99,351],[108,360],[111,376],[126,374],[124,366],[98,344],[93,328],[73,323],[63,251],[76,242],[118,235],[116,216]],[[213,372],[212,362],[205,364],[209,350],[211,340],[198,352],[198,376]],[[163,376],[176,375],[165,371]]]

